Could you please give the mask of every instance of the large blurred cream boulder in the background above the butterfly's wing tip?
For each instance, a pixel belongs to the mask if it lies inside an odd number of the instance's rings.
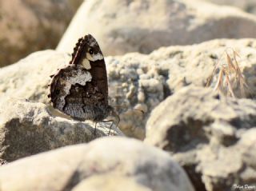
[[[246,30],[245,30],[246,29]],[[72,52],[86,33],[106,55],[149,54],[161,46],[189,45],[214,38],[256,38],[256,18],[232,7],[197,0],[87,0],[57,50]]]

